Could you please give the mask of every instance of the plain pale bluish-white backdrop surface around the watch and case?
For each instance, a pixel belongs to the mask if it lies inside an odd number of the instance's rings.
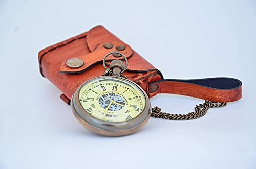
[[[0,1],[0,168],[256,168],[255,1]],[[202,118],[151,118],[138,133],[82,128],[39,74],[37,52],[104,25],[165,78],[227,76],[243,99]],[[200,99],[162,94],[166,112]]]

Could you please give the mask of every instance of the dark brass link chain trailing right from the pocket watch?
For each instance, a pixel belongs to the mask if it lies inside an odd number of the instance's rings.
[[[211,107],[224,107],[227,103],[219,103],[219,102],[212,102],[206,100],[203,104],[196,105],[195,112],[189,112],[188,114],[170,114],[161,112],[159,107],[152,108],[151,116],[154,118],[163,118],[169,120],[189,120],[189,119],[196,119],[199,117],[204,116],[207,113],[207,110]]]

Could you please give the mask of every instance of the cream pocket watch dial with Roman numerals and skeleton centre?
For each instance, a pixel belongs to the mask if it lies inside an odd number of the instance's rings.
[[[108,122],[131,120],[145,107],[145,96],[140,88],[114,78],[95,79],[82,86],[79,101],[87,113]]]

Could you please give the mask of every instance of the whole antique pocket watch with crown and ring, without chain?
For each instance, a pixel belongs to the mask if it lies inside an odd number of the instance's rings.
[[[113,60],[109,68],[105,59],[117,53],[125,60]],[[151,103],[145,91],[121,74],[128,61],[119,52],[103,59],[103,76],[82,83],[74,92],[72,111],[82,126],[106,136],[122,136],[140,130],[151,116]]]

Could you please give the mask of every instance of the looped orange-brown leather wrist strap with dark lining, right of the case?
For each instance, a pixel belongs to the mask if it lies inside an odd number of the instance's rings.
[[[242,82],[233,78],[162,79],[149,83],[147,93],[150,97],[172,93],[212,102],[233,102],[242,98]]]

